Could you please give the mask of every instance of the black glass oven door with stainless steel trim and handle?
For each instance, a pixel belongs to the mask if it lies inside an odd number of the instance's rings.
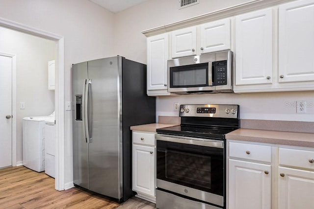
[[[156,135],[157,187],[224,206],[224,141]]]

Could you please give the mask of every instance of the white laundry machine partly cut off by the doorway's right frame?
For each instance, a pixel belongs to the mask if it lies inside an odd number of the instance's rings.
[[[45,122],[45,173],[55,178],[56,128],[54,117]]]

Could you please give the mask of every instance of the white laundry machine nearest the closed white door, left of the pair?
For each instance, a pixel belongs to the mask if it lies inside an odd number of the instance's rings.
[[[23,165],[37,172],[45,170],[45,120],[51,117],[23,118]]]

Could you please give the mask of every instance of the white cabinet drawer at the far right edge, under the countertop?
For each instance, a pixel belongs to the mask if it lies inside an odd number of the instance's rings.
[[[279,164],[314,170],[314,151],[279,148]]]

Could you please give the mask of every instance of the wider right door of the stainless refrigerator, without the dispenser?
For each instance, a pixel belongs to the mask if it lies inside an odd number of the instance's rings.
[[[88,62],[89,189],[121,199],[122,97],[121,57]]]

